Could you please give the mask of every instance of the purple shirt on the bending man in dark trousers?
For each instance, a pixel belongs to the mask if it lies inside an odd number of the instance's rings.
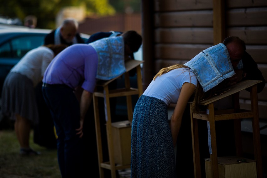
[[[73,44],[61,51],[44,72],[43,83],[65,84],[71,88],[81,87],[94,92],[98,56],[88,44]]]

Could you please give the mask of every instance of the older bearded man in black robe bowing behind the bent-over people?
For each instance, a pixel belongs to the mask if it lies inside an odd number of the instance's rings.
[[[44,44],[65,44],[72,45],[84,43],[78,33],[78,22],[73,18],[66,18],[60,27],[47,34],[44,39]],[[42,83],[36,87],[37,107],[39,110],[40,124],[34,127],[34,143],[44,146],[49,149],[56,148],[54,124],[51,118],[49,108],[44,102],[41,92]]]

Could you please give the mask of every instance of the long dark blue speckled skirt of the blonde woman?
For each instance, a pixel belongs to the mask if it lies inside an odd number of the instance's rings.
[[[131,178],[175,178],[175,154],[165,102],[141,95],[131,137]]]

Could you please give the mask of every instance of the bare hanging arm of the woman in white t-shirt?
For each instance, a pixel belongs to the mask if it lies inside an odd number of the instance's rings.
[[[181,88],[181,93],[179,95],[178,101],[176,103],[174,112],[170,120],[170,130],[173,140],[173,147],[176,145],[177,136],[181,127],[183,113],[186,108],[186,104],[195,91],[196,86],[192,83],[185,82]]]

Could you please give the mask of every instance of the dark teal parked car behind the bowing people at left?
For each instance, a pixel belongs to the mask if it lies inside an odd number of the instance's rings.
[[[3,82],[11,68],[29,51],[44,43],[51,29],[30,29],[23,26],[0,24],[0,96]],[[81,34],[85,41],[90,37]]]

